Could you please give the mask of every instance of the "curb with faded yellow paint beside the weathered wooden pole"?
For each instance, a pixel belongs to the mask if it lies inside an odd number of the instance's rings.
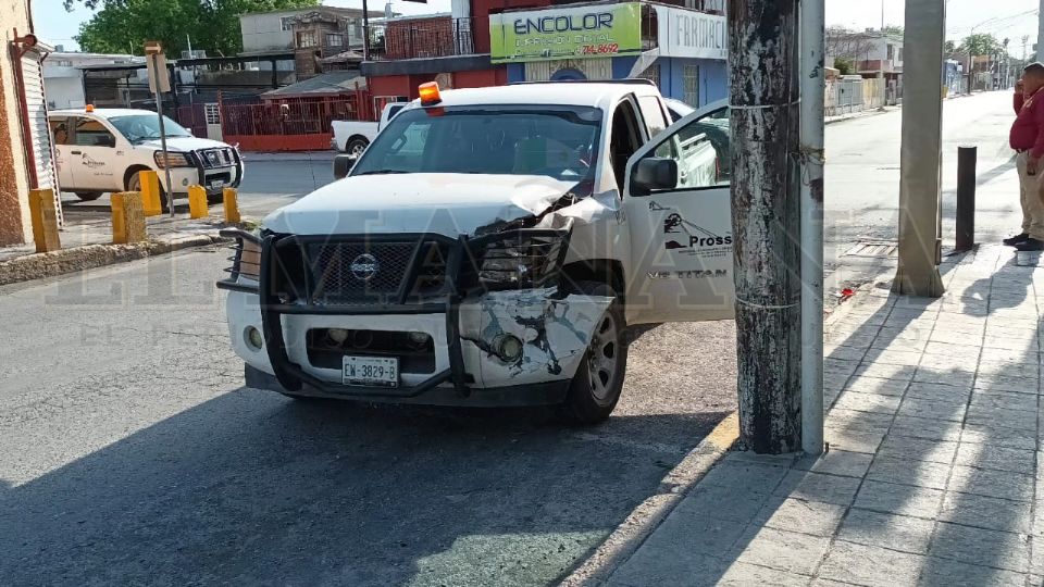
[[[599,585],[632,554],[682,501],[704,475],[718,463],[739,437],[739,416],[733,412],[714,426],[696,448],[682,459],[652,495],[646,498],[612,534],[560,585]]]

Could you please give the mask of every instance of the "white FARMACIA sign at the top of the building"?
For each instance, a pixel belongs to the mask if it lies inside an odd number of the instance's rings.
[[[656,7],[660,54],[676,58],[729,59],[725,17],[672,7]]]

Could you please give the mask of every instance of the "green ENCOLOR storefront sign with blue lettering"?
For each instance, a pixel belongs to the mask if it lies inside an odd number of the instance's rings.
[[[605,58],[642,52],[637,2],[489,15],[494,63]]]

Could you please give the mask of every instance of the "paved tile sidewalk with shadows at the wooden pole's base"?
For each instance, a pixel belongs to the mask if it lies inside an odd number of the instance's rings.
[[[730,453],[605,584],[1042,585],[1037,262],[984,247],[940,300],[855,300],[828,333],[830,451]]]

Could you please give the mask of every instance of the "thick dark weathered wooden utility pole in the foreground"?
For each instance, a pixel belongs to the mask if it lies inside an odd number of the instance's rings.
[[[726,12],[739,440],[791,452],[801,440],[798,1],[730,0]]]

